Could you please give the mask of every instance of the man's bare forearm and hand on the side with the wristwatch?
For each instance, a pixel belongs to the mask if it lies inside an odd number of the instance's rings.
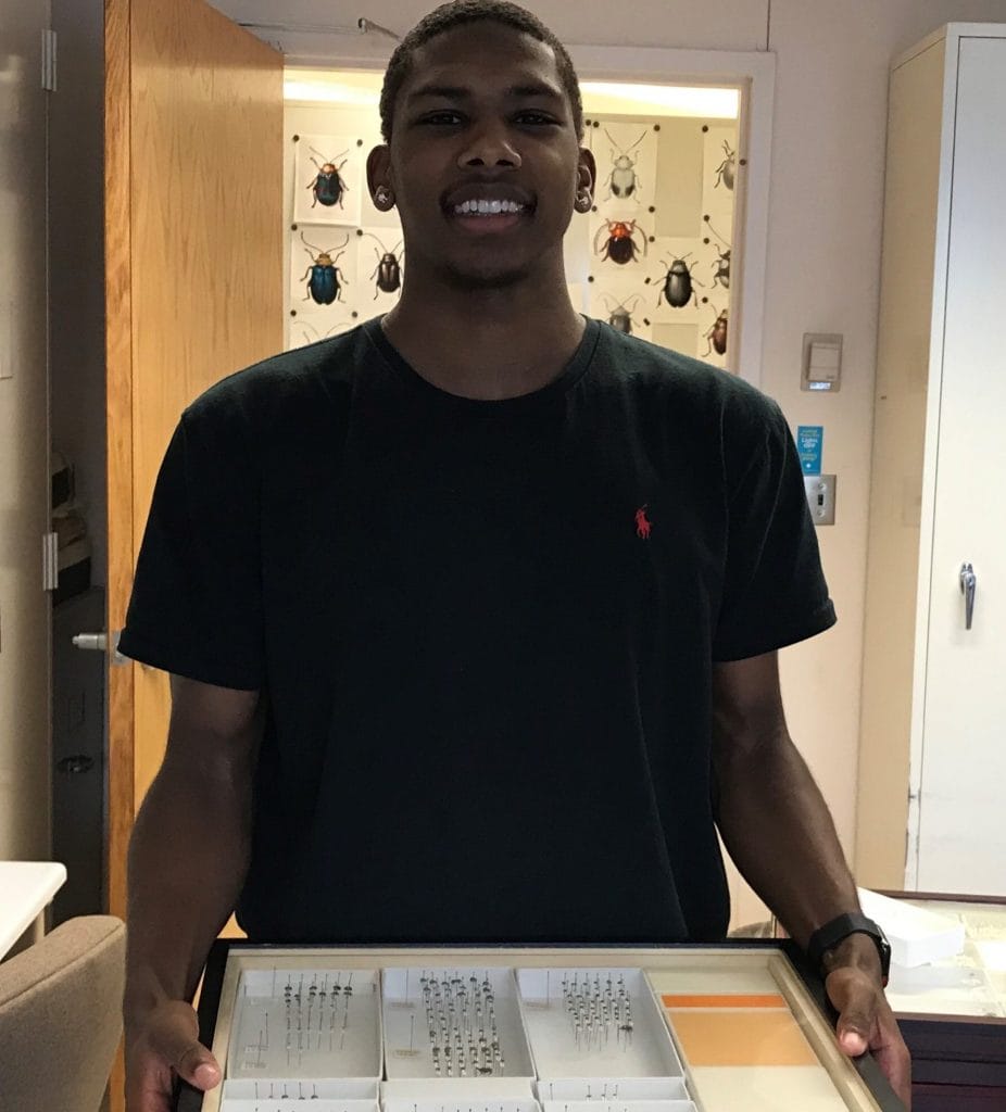
[[[859,910],[835,823],[786,727],[776,653],[717,664],[712,681],[717,824],[744,878],[803,947],[825,923]],[[851,934],[825,955],[839,1043],[869,1048],[910,1102],[910,1063],[880,983],[872,939]]]

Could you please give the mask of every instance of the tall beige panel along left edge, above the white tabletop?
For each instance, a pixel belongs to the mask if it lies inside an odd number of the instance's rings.
[[[0,860],[49,855],[48,10],[0,3]]]

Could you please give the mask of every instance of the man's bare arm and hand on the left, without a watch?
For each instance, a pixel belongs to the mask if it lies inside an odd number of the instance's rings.
[[[188,1002],[248,868],[262,723],[257,692],[171,677],[167,753],[129,847],[129,1112],[168,1112],[172,1074],[220,1080]]]

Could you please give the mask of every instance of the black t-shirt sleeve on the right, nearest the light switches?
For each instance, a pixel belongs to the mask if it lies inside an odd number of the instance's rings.
[[[728,494],[716,661],[770,653],[812,637],[836,620],[786,418],[768,403],[760,424],[762,435]]]

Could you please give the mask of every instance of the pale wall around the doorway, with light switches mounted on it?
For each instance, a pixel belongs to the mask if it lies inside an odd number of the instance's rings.
[[[333,16],[327,0],[288,3],[282,16],[270,0],[218,0],[218,7],[247,22],[332,26],[356,18],[355,10]],[[430,7],[372,0],[366,16],[402,33]],[[819,530],[839,625],[783,654],[783,687],[792,734],[851,856],[888,70],[897,53],[944,22],[1006,20],[1006,0],[526,0],[526,7],[568,42],[777,54],[761,385],[791,425],[825,426],[825,470],[839,476],[837,524]],[[284,42],[319,61],[347,53],[383,60],[391,49],[369,36],[285,36]],[[805,331],[845,336],[839,394],[800,391]],[[736,922],[757,916],[756,903],[740,904]]]

